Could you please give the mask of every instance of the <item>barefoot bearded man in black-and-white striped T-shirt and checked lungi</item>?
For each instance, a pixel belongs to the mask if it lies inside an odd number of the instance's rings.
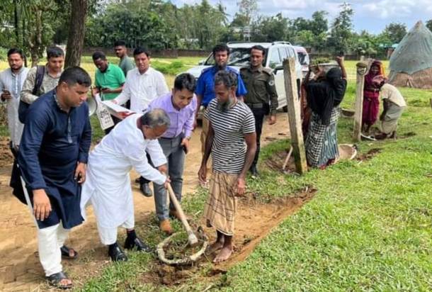
[[[208,251],[211,254],[220,249],[213,260],[215,263],[228,259],[232,254],[236,197],[244,194],[246,172],[251,167],[256,152],[254,115],[245,103],[237,100],[236,89],[236,74],[217,72],[217,98],[210,101],[205,112],[209,130],[198,177],[201,183],[206,182],[206,165],[211,153],[212,178],[204,217],[208,226],[214,227],[217,232],[217,240]]]

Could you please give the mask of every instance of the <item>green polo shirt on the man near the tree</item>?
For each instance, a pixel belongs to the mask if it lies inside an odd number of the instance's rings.
[[[125,83],[125,74],[122,69],[115,64],[108,64],[108,68],[105,72],[97,69],[95,74],[95,85],[101,87],[101,89],[117,89]],[[119,94],[103,94],[102,99],[104,101],[110,101],[115,99]]]

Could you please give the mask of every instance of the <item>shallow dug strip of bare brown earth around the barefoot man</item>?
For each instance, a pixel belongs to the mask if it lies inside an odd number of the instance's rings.
[[[226,262],[212,264],[205,275],[198,271],[203,269],[203,266],[208,266],[215,254],[203,257],[193,266],[167,266],[155,262],[151,272],[141,275],[142,281],[156,286],[178,286],[191,279],[200,283],[214,281],[215,277],[226,274],[231,266],[244,261],[275,226],[302,208],[307,201],[313,198],[316,191],[312,187],[307,187],[283,198],[270,198],[268,196],[260,198],[254,193],[248,193],[239,198],[233,237],[234,253]],[[205,226],[204,220],[200,222],[200,225]],[[215,230],[211,228],[204,228],[204,230],[210,237],[210,242],[214,241]]]

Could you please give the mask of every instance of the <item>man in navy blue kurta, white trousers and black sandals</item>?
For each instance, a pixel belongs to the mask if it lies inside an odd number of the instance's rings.
[[[38,223],[40,262],[50,283],[62,288],[72,282],[62,272],[60,247],[83,221],[79,203],[91,143],[85,102],[90,84],[84,69],[66,69],[59,85],[30,106],[18,155]]]

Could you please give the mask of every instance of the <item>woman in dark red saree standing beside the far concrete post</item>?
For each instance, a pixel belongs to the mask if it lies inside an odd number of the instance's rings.
[[[363,90],[363,116],[362,130],[369,135],[370,127],[377,121],[380,111],[380,89],[373,82],[373,78],[384,76],[382,62],[375,60],[371,65],[368,74],[365,75],[365,87]]]

